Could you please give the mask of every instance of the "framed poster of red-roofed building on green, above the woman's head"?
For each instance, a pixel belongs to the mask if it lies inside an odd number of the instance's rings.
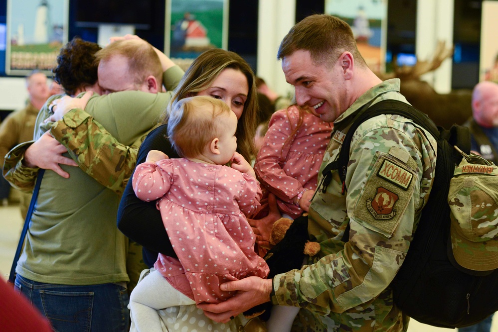
[[[228,0],[166,0],[165,53],[191,62],[228,44]]]

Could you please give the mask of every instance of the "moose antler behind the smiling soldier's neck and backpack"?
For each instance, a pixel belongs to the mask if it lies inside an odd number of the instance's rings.
[[[396,59],[394,59],[394,72],[377,74],[377,76],[382,80],[390,78],[399,78],[401,80],[419,79],[423,74],[438,69],[446,58],[453,55],[453,51],[453,46],[447,48],[445,41],[439,41],[431,60],[420,61],[417,59],[414,66],[399,67],[396,65]]]

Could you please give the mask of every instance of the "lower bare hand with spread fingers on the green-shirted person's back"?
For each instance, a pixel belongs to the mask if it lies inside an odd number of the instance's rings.
[[[69,173],[64,171],[60,164],[76,167],[78,164],[71,158],[64,157],[62,154],[65,152],[67,152],[65,146],[53,138],[50,131],[47,131],[26,149],[22,163],[30,168],[52,170],[67,179]]]

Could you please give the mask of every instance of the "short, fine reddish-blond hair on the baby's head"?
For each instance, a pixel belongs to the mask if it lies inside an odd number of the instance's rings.
[[[230,115],[223,101],[207,96],[179,100],[169,112],[167,135],[182,157],[196,157],[204,152],[213,138],[227,130],[222,115]]]

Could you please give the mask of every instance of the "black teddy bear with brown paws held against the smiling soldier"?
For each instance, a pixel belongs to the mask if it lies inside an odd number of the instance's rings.
[[[308,235],[308,214],[296,218],[280,218],[273,223],[270,234],[273,247],[264,259],[270,267],[268,279],[293,269],[300,269],[305,256],[314,256],[320,251],[320,243],[311,242]],[[270,318],[271,302],[263,303],[244,312],[246,318],[259,316],[262,321]]]

